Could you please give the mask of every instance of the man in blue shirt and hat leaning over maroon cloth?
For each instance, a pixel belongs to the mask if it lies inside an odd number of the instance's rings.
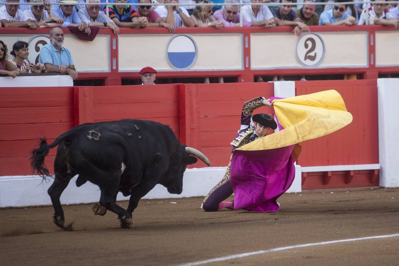
[[[69,26],[77,27],[81,32],[90,35],[91,30],[87,27],[86,22],[82,22],[82,20],[77,15],[75,8],[73,8],[72,4],[76,4],[75,0],[61,0],[61,3],[69,4],[69,5],[56,5],[51,9],[54,13],[54,16],[57,18],[62,18],[64,23],[62,24],[62,28],[66,28]]]

